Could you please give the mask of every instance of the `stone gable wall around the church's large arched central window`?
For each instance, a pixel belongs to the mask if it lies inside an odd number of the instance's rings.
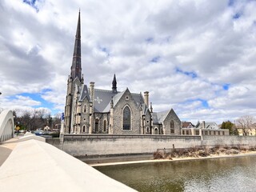
[[[131,127],[130,130],[122,129],[123,109],[129,106],[131,110]],[[114,122],[113,130],[114,134],[140,134],[140,110],[134,102],[130,92],[126,92],[122,95],[122,98],[114,106],[113,110]]]

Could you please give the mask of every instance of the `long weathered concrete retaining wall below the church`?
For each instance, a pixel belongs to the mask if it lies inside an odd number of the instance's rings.
[[[158,149],[198,146],[256,146],[256,137],[125,134],[65,134],[46,142],[74,157],[153,154]]]

